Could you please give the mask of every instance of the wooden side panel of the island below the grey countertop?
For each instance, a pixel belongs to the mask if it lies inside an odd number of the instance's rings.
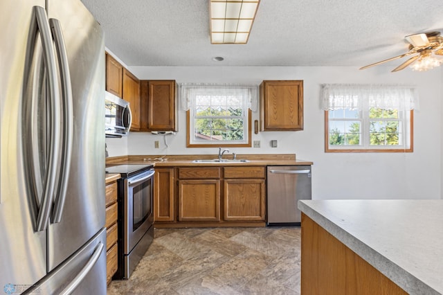
[[[407,294],[302,213],[301,294]]]

